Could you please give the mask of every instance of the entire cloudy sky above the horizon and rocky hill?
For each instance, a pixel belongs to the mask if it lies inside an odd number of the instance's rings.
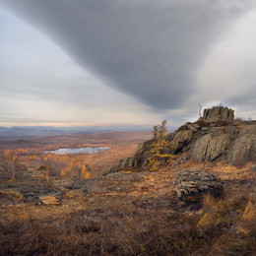
[[[0,126],[256,119],[255,0],[0,0]]]

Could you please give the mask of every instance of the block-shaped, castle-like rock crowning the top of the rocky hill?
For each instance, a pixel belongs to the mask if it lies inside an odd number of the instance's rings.
[[[214,106],[204,110],[203,120],[209,123],[233,120],[234,110],[224,106]]]

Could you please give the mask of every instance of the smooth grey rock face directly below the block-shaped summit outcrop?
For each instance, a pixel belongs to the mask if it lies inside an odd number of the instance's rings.
[[[256,124],[200,127],[182,151],[197,161],[256,160]]]

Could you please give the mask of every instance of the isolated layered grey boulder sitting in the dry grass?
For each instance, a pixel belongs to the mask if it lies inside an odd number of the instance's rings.
[[[173,183],[178,198],[187,203],[198,203],[205,194],[220,197],[224,192],[223,181],[202,170],[181,170]]]

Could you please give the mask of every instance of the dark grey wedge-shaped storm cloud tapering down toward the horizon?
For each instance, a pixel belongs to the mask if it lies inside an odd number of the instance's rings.
[[[109,87],[159,109],[195,93],[195,74],[246,0],[0,0]]]

